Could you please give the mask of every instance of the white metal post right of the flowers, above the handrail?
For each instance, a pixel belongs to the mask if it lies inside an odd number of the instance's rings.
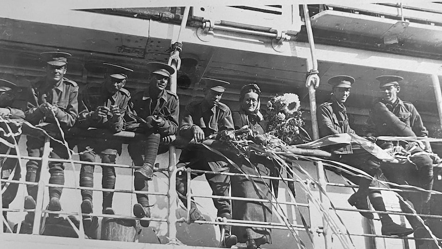
[[[313,31],[310,23],[310,15],[307,5],[303,5],[304,9],[304,19],[307,27],[307,35],[309,39],[310,45],[310,54],[311,54],[311,63],[307,63],[307,69],[310,70],[318,70],[318,63],[316,61],[315,55],[315,43],[313,40]],[[311,67],[311,68],[310,68]],[[318,129],[318,120],[316,117],[316,90],[313,84],[308,85],[309,88],[309,100],[310,100],[310,116],[312,120],[312,132],[313,132],[313,140],[319,139],[319,129]]]

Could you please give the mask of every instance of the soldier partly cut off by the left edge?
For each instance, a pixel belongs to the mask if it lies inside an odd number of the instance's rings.
[[[25,119],[25,112],[17,107],[14,99],[19,91],[19,88],[7,80],[0,79],[0,119]],[[6,133],[17,132],[14,125],[8,125],[5,122],[0,124],[0,137],[11,144],[18,143],[19,136],[5,136]],[[9,134],[8,134],[9,135]],[[11,148],[3,143],[0,144],[0,154],[17,155],[15,148]],[[8,180],[20,180],[21,168],[16,158],[3,158],[0,162],[1,177]],[[2,194],[3,208],[9,208],[9,204],[17,196],[18,183],[2,182],[2,189],[5,188]],[[7,212],[3,212],[3,216],[7,219]]]

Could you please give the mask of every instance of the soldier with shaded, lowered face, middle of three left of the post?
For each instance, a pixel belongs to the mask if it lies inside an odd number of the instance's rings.
[[[130,93],[123,88],[128,74],[132,69],[103,63],[106,68],[103,84],[90,84],[79,94],[79,117],[77,125],[83,128],[96,127],[107,129],[112,133],[123,129],[123,117],[128,108]],[[122,142],[118,140],[88,139],[78,142],[80,160],[95,162],[101,157],[102,163],[115,163],[117,155],[121,155]],[[115,168],[102,166],[103,188],[115,188]],[[80,186],[93,187],[94,165],[83,164],[80,171]],[[92,190],[82,190],[82,212],[92,213]],[[115,214],[112,209],[113,192],[103,192],[103,214]]]

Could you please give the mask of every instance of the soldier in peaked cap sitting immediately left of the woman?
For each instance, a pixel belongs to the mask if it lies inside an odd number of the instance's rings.
[[[194,101],[186,106],[183,120],[179,126],[179,135],[186,139],[193,139],[195,142],[201,142],[206,137],[215,132],[223,130],[233,130],[232,112],[230,108],[220,103],[223,92],[228,82],[203,78],[206,83],[204,88],[204,99]],[[211,170],[219,172],[229,172],[229,164],[220,156],[206,149],[198,149],[194,146],[187,146],[181,152],[176,167],[186,167],[200,170]],[[194,179],[201,173],[192,173]],[[229,196],[230,177],[226,175],[205,174],[213,195]],[[185,171],[179,171],[176,176],[176,190],[178,197],[187,205],[187,176]],[[226,199],[213,199],[213,204],[218,209],[218,217],[231,219],[230,201]],[[196,204],[191,200],[190,219],[192,221],[204,220]],[[225,246],[230,248],[237,243],[235,235],[230,235],[230,226],[225,226],[226,233],[224,238]]]

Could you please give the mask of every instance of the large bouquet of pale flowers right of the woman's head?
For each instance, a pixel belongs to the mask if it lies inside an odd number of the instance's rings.
[[[298,95],[294,93],[284,93],[271,98],[267,102],[266,132],[288,145],[304,143],[306,138],[310,140],[304,129],[303,113],[299,107]]]

